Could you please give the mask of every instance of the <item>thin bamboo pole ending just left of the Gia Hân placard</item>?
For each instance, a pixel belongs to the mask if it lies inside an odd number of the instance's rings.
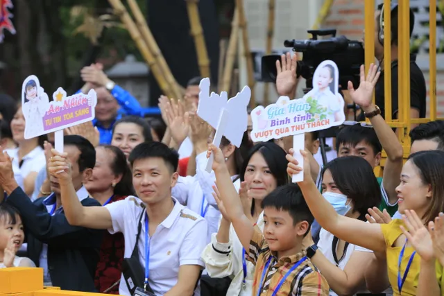
[[[244,44],[244,55],[247,63],[248,87],[251,89],[250,107],[254,108],[255,103],[255,77],[253,71],[253,59],[251,58],[250,42],[248,42],[247,20],[245,17],[244,0],[236,0],[236,7],[239,10],[239,28],[242,31],[242,42]]]

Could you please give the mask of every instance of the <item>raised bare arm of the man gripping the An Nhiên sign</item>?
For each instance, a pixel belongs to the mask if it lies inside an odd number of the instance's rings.
[[[66,153],[51,150],[48,171],[58,178],[63,209],[69,224],[94,229],[112,228],[111,214],[105,207],[83,207],[72,183],[71,166]]]

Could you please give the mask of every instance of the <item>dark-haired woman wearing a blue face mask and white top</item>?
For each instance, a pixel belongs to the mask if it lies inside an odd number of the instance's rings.
[[[322,175],[323,197],[338,214],[366,220],[368,208],[377,207],[381,201],[375,174],[370,164],[361,157],[336,158],[324,166]],[[330,296],[369,293],[365,290],[365,268],[362,267],[370,261],[371,253],[355,252],[355,245],[342,241],[325,229],[321,229],[319,238],[318,250],[311,256],[311,262],[327,279]],[[304,245],[314,245],[311,235],[306,236]]]

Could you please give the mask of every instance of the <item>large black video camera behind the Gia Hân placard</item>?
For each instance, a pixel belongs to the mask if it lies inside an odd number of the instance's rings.
[[[292,47],[293,51],[303,53],[302,60],[298,61],[296,74],[307,80],[307,89],[313,87],[314,71],[324,60],[332,60],[339,69],[339,85],[346,88],[348,80],[353,86],[359,86],[359,67],[364,64],[364,46],[362,42],[348,40],[345,36],[336,37],[336,29],[309,30],[313,37],[309,40],[285,40],[285,47]],[[324,40],[318,36],[332,35]],[[264,55],[262,57],[262,81],[276,82],[276,60],[280,55]]]

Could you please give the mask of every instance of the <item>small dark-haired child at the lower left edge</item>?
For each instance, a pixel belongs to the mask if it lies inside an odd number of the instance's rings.
[[[31,259],[15,256],[22,247],[24,238],[22,218],[20,218],[19,212],[15,207],[3,202],[0,205],[0,268],[35,267]]]

